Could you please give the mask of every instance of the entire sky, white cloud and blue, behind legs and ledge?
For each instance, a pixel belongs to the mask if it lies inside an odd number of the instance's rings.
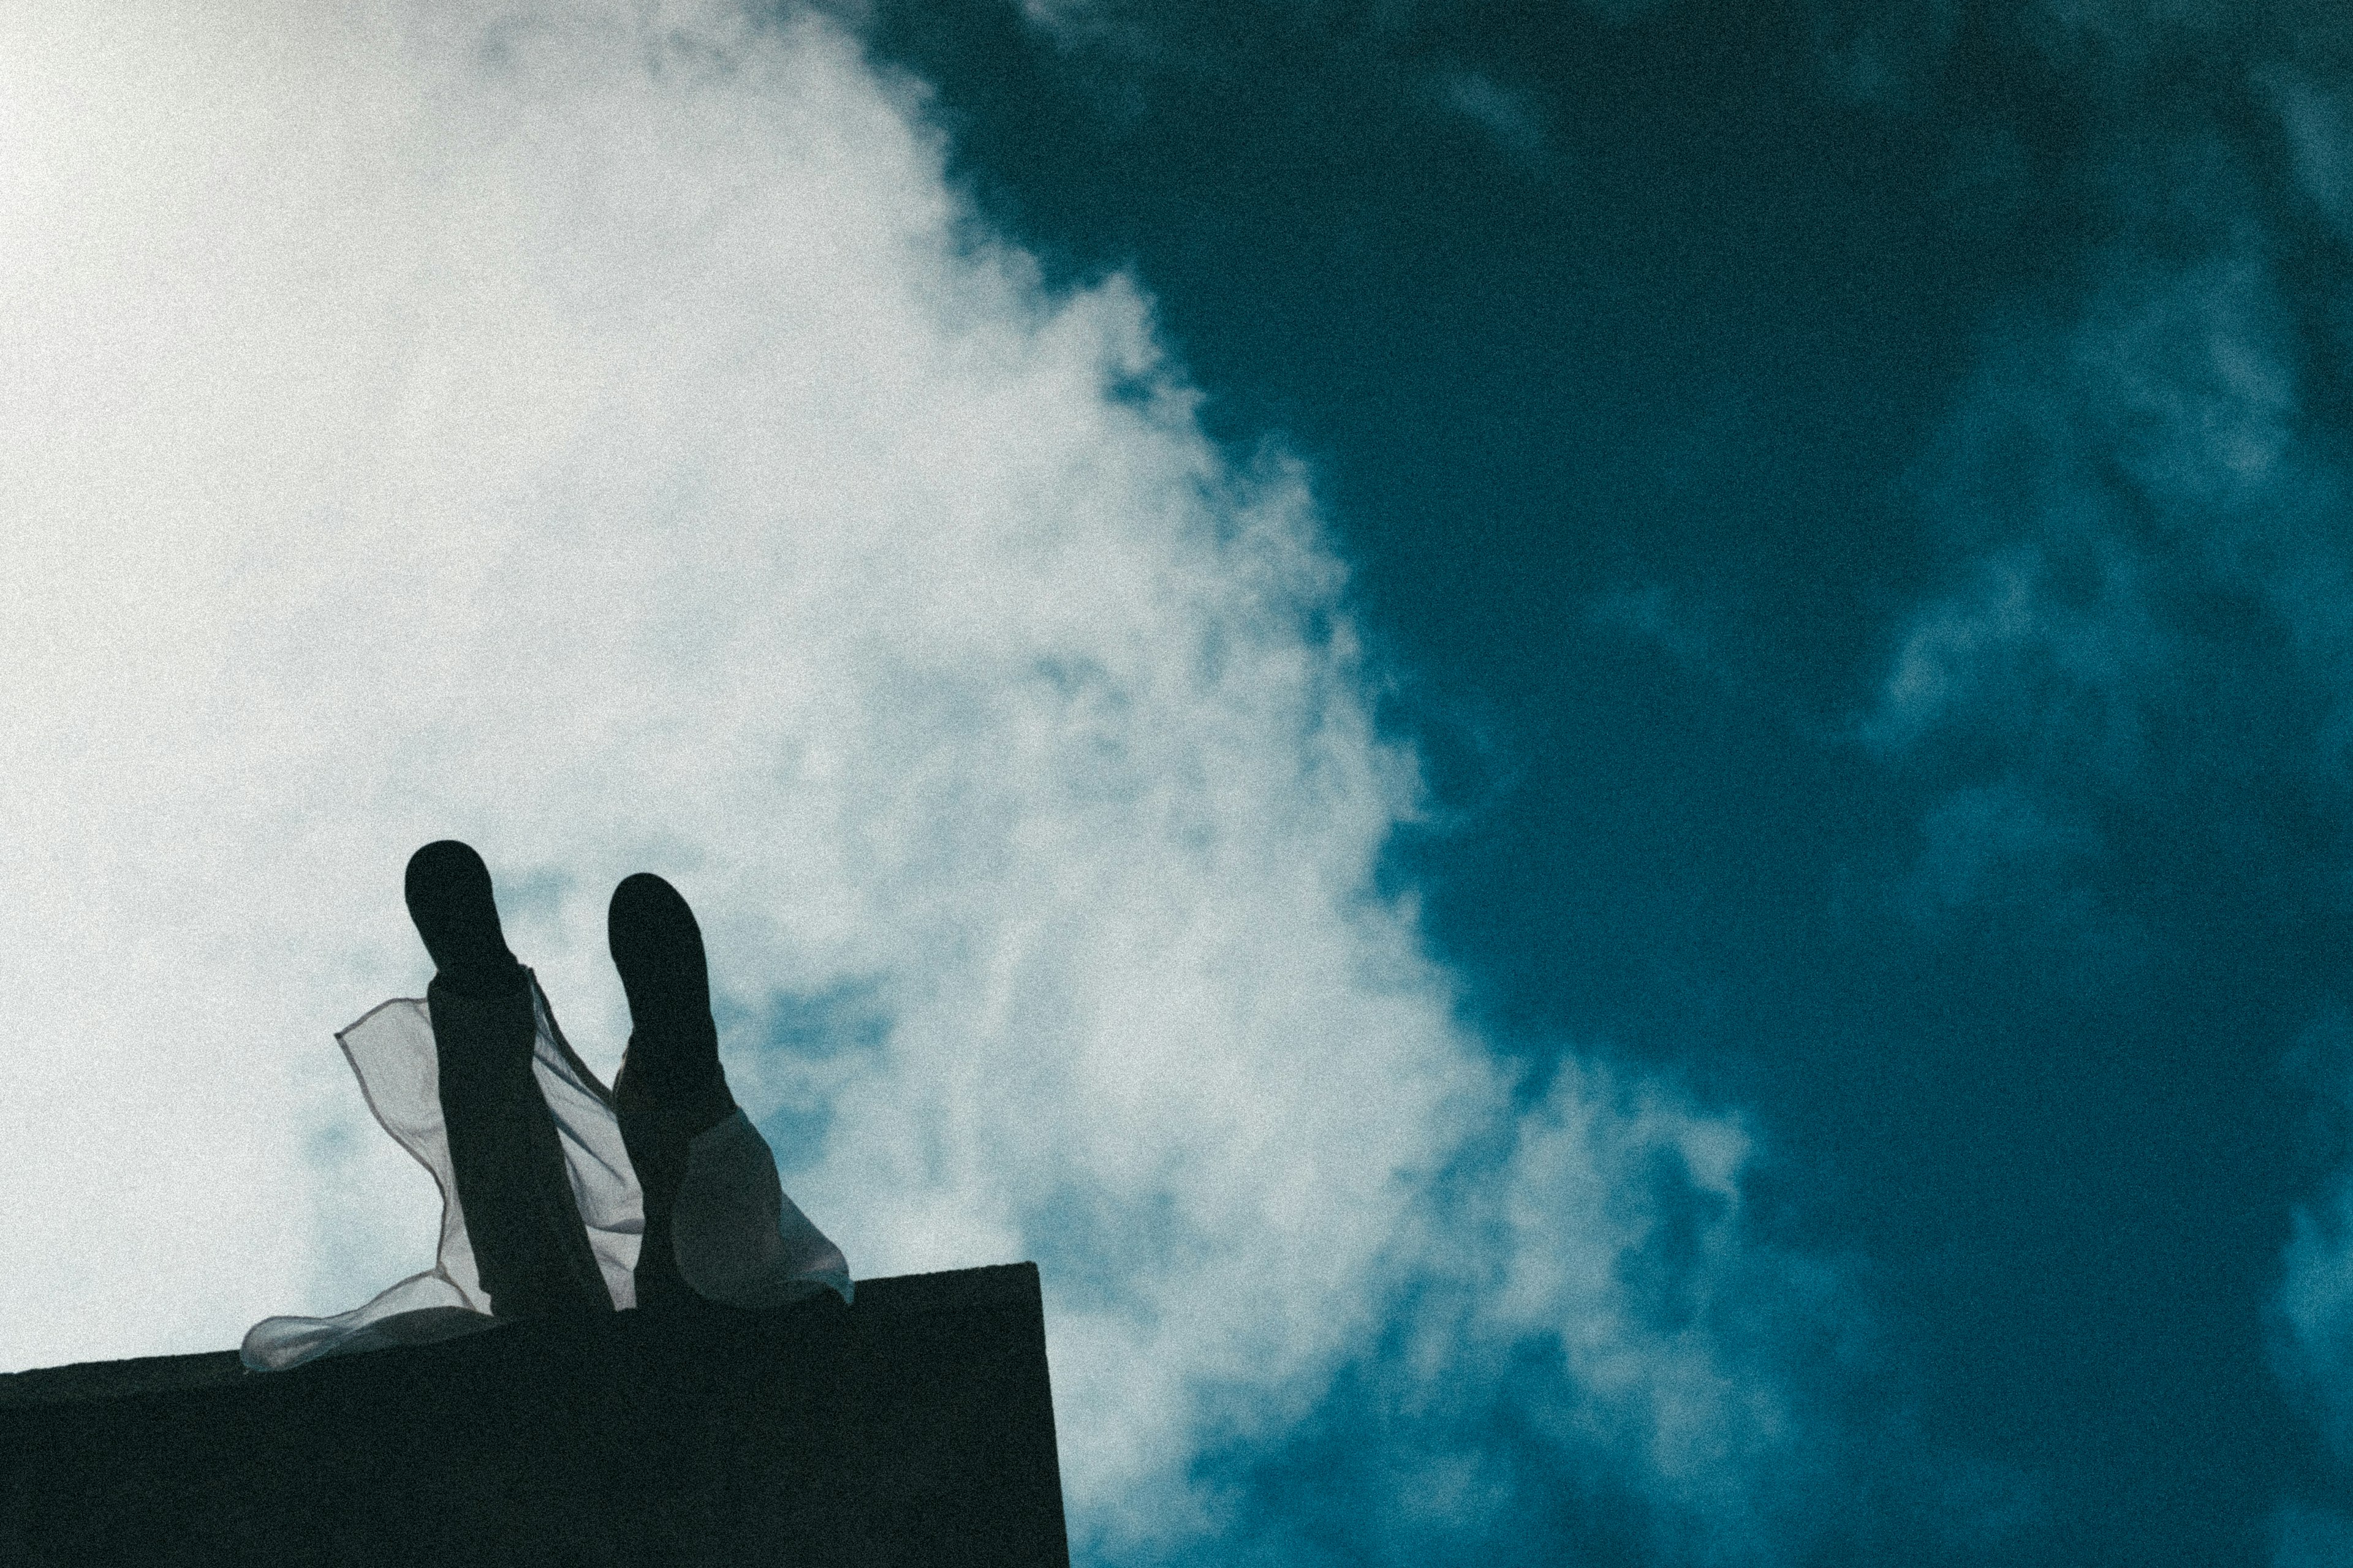
[[[0,14],[0,1368],[612,884],[1082,1563],[2353,1563],[2353,21]]]

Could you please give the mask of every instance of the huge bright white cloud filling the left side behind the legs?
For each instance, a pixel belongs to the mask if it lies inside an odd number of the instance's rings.
[[[1772,1439],[1617,1269],[1609,1150],[1729,1204],[1746,1135],[1574,1072],[1513,1131],[1372,893],[1414,769],[1301,475],[1217,456],[1132,284],[1042,289],[852,40],[16,9],[0,120],[0,1363],[419,1267],[329,1032],[421,990],[400,870],[454,835],[605,1070],[607,891],[682,886],[859,1274],[1045,1262],[1082,1542],[1212,1528],[1200,1443],[1409,1276],[1492,1276],[1461,1331],[1555,1335],[1678,1507]],[[1501,1206],[1440,1241],[1478,1138]]]

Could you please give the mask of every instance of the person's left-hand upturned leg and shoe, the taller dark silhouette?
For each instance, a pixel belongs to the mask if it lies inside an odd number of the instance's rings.
[[[489,867],[456,839],[409,858],[409,919],[433,954],[426,1006],[449,1164],[494,1316],[612,1312],[532,1077],[532,980],[499,931]]]

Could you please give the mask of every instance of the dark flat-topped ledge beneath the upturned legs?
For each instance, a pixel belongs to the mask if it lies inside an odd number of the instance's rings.
[[[0,1563],[1064,1568],[1038,1267],[856,1298],[0,1375]]]

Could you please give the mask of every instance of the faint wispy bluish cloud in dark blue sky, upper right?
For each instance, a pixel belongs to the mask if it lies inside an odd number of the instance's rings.
[[[2104,261],[2078,320],[1988,350],[1922,465],[1932,520],[1986,543],[1897,635],[1859,726],[1882,752],[1998,731],[2047,769],[2129,773],[2148,712],[2207,682],[2198,599],[2278,616],[2315,668],[2353,646],[2268,268]]]

